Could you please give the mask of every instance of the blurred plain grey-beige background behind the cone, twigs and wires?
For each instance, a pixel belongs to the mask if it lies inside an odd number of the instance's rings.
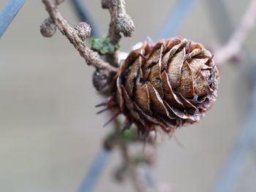
[[[232,30],[218,31],[207,1],[195,1],[176,34],[206,47],[218,47]],[[127,0],[127,13],[135,22],[135,33],[132,38],[121,39],[121,50],[129,52],[146,36],[156,41],[176,2]],[[237,26],[249,1],[224,3],[230,22]],[[1,0],[0,9],[5,4],[7,0]],[[86,5],[99,34],[107,34],[108,10],[101,8],[100,1],[86,1]],[[71,1],[61,4],[60,9],[71,26],[80,21]],[[214,8],[216,17],[219,11]],[[0,39],[3,192],[78,191],[102,148],[102,139],[112,130],[111,125],[102,128],[109,118],[107,113],[95,115],[94,106],[102,97],[91,84],[93,67],[85,64],[59,31],[52,38],[42,37],[39,25],[45,18],[48,13],[41,1],[26,1]],[[245,46],[255,52],[256,28]],[[164,139],[153,168],[160,183],[170,184],[177,192],[205,192],[214,187],[243,128],[249,98],[245,65],[223,64],[214,107],[200,123],[176,131],[184,148],[173,139]],[[255,154],[256,150],[239,165],[242,169],[233,183],[233,192],[256,190]],[[118,151],[114,152],[95,192],[133,191],[129,182],[118,184],[113,180],[113,168],[120,161]]]

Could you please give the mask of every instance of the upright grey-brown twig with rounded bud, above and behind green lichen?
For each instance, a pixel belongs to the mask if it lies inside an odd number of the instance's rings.
[[[125,11],[124,0],[102,0],[102,8],[109,9],[110,12],[111,19],[108,37],[110,38],[111,44],[118,45],[121,39],[121,33],[125,37],[132,36],[135,26]],[[116,65],[118,64],[116,52],[106,55],[106,58],[108,61],[113,61]]]

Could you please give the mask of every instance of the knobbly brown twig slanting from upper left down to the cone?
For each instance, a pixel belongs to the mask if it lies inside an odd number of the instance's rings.
[[[107,69],[109,72],[117,72],[115,67],[110,66],[110,64],[99,58],[98,53],[86,47],[84,41],[78,36],[74,28],[69,26],[67,21],[62,17],[55,0],[42,0],[42,2],[45,4],[50,19],[53,20],[53,23],[56,24],[61,33],[69,39],[69,42],[74,45],[87,64],[94,66],[96,69]]]

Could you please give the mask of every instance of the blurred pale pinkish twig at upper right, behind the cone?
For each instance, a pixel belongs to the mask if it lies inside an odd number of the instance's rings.
[[[238,54],[244,40],[255,25],[255,18],[256,1],[252,0],[241,19],[241,23],[236,28],[236,31],[231,35],[227,44],[217,50],[214,54],[214,60],[218,65],[224,64],[225,61]]]

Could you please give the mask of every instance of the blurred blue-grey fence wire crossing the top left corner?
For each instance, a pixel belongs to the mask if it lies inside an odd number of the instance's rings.
[[[15,18],[25,1],[26,0],[10,0],[0,12],[0,37],[4,34],[4,31],[10,23],[12,23],[12,20]]]

